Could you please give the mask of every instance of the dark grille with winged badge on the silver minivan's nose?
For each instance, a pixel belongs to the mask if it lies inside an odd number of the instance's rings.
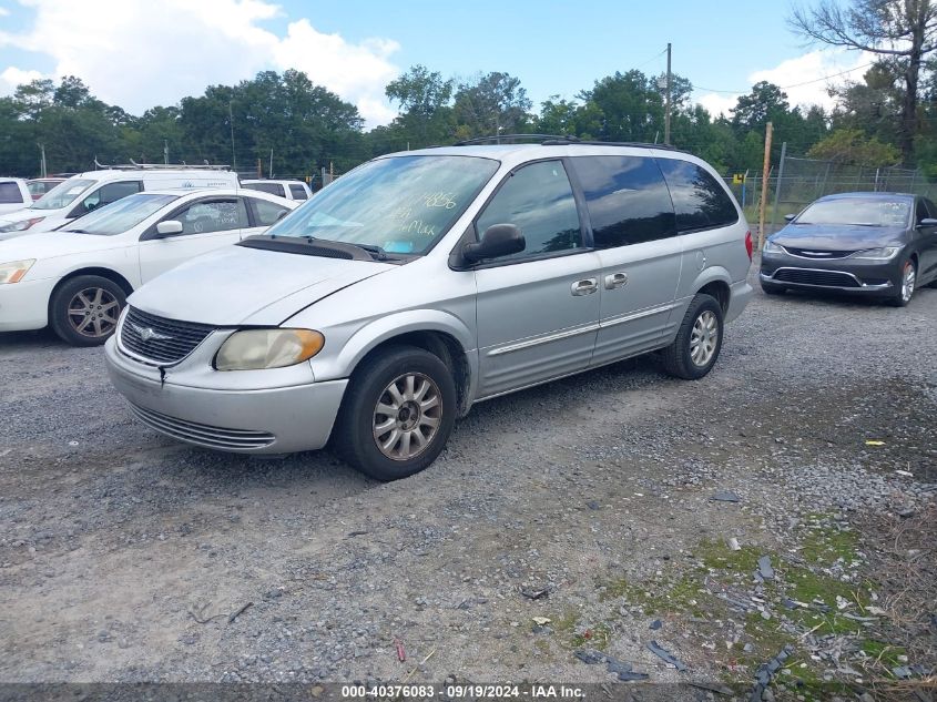
[[[157,365],[185,358],[215,327],[208,324],[166,319],[131,307],[120,340],[126,350]]]

